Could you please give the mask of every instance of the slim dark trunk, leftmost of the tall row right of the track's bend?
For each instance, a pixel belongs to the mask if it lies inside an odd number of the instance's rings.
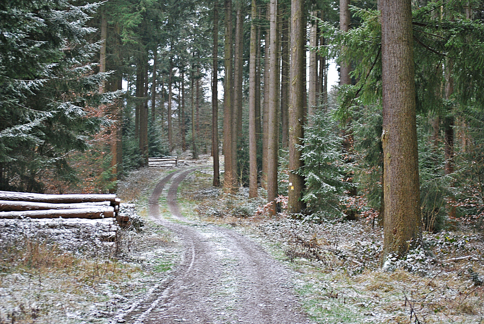
[[[218,10],[216,0],[213,4],[213,63],[212,63],[212,155],[213,155],[213,183],[220,186],[218,161]]]

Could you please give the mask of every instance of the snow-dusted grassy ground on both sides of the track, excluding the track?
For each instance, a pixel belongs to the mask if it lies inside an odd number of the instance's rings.
[[[121,198],[132,202],[120,208],[133,220],[129,228],[110,219],[0,220],[0,323],[123,323],[173,278],[178,238],[138,216],[170,172],[152,169],[120,184]],[[424,233],[423,247],[382,270],[378,226],[267,218],[256,213],[263,199],[249,201],[246,189],[225,194],[210,182],[195,172],[182,183],[183,215],[234,228],[270,250],[295,271],[314,322],[483,323],[482,233]]]

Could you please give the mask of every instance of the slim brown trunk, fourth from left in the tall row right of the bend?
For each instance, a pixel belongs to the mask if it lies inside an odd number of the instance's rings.
[[[257,61],[257,28],[254,23],[257,17],[256,0],[252,0],[250,25],[250,58],[249,58],[249,198],[257,197],[257,137],[256,137],[256,61]]]

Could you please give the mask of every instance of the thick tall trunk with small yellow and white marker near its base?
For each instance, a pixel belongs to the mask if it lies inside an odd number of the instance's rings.
[[[302,73],[305,67],[303,61],[305,51],[305,21],[303,18],[303,0],[292,0],[291,2],[291,34],[290,34],[290,55],[291,64],[289,67],[289,188],[288,207],[291,213],[300,213],[304,208],[302,201],[302,190],[304,188],[304,177],[295,171],[303,166],[301,151],[296,145],[302,145],[303,133],[303,79]]]

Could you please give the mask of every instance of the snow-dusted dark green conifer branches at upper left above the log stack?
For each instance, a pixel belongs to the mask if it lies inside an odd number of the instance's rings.
[[[107,74],[93,73],[99,44],[86,22],[98,5],[0,4],[0,190],[41,192],[45,172],[75,180],[66,156],[101,123],[86,108],[116,95],[95,94]]]

